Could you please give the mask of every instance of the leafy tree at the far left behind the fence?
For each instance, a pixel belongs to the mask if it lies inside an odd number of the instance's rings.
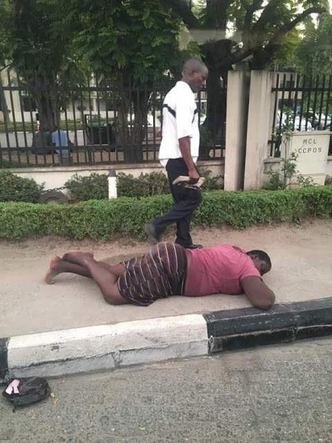
[[[63,85],[82,80],[72,35],[62,29],[64,10],[58,0],[0,1],[7,12],[3,53],[22,89],[37,103],[41,127],[48,131],[59,123],[66,101]]]

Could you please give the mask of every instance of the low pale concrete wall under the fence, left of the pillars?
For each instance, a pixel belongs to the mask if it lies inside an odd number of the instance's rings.
[[[199,168],[205,168],[212,171],[212,174],[223,175],[224,161],[201,161]],[[10,172],[24,177],[26,179],[34,179],[37,183],[45,183],[44,189],[61,188],[64,183],[73,175],[81,175],[87,177],[93,172],[95,174],[108,174],[110,170],[116,170],[117,173],[132,174],[133,177],[139,177],[141,173],[150,174],[151,172],[164,172],[165,169],[160,163],[142,163],[138,165],[98,165],[98,166],[66,166],[56,168],[17,168],[10,169]],[[64,191],[65,192],[65,191]],[[66,193],[66,192],[65,192]]]

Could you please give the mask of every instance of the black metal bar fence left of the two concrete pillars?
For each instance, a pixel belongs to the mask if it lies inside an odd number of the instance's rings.
[[[130,78],[110,80],[94,75],[86,84],[69,88],[53,80],[36,78],[26,84],[7,71],[0,82],[2,166],[158,160],[163,100],[174,81],[163,78],[138,88]],[[225,87],[221,89],[225,94]],[[198,93],[196,102],[203,134],[206,89]],[[221,158],[225,149],[225,121],[219,126],[222,130],[214,130],[208,141],[211,159]]]

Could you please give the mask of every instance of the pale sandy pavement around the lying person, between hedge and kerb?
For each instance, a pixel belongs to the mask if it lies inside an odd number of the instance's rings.
[[[265,249],[273,269],[264,276],[277,302],[294,302],[332,296],[332,220],[301,226],[281,224],[237,231],[227,228],[197,230],[194,241],[205,246],[232,243],[247,250]],[[50,257],[86,243],[63,242],[54,237],[10,244],[0,243],[1,309],[0,338],[74,327],[114,324],[145,318],[205,314],[248,307],[244,296],[215,295],[199,298],[173,297],[150,307],[107,305],[91,280],[59,275],[48,286],[43,275]],[[91,243],[88,245],[91,248]],[[119,242],[92,244],[98,259],[116,263],[147,251],[149,244]]]

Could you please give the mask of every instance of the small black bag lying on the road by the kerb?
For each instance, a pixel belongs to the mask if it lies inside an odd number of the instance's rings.
[[[39,377],[13,379],[2,395],[14,404],[15,410],[17,406],[25,406],[44,400],[50,395],[50,386],[46,380]]]

